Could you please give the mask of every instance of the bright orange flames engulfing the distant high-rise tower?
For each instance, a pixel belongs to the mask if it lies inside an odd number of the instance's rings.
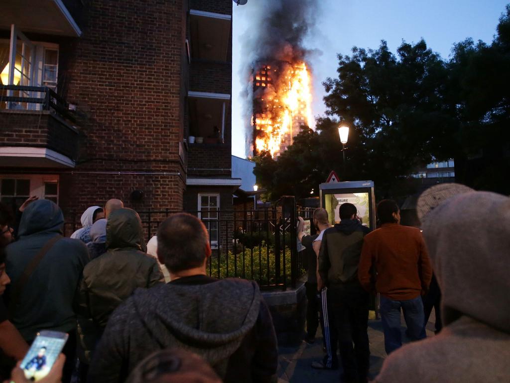
[[[257,152],[269,151],[278,156],[292,145],[302,125],[312,119],[312,92],[310,72],[304,62],[281,63],[279,70],[264,66],[255,77],[253,122],[256,128]]]

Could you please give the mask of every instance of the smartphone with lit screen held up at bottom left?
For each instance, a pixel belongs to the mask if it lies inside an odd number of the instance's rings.
[[[21,362],[25,377],[37,381],[45,377],[52,369],[62,352],[69,335],[60,331],[41,331],[37,333],[30,350]]]

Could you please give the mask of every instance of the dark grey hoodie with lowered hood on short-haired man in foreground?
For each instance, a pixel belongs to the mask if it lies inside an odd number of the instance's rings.
[[[225,382],[266,382],[276,373],[271,315],[256,282],[191,276],[138,289],[113,313],[89,382],[119,382],[154,351],[203,357]]]

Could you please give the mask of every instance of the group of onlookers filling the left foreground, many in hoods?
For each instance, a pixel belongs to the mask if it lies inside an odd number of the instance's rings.
[[[30,198],[15,216],[0,205],[2,379],[28,381],[27,366],[11,369],[42,329],[68,334],[45,383],[275,376],[276,335],[258,285],[207,275],[209,235],[195,216],[173,214],[149,244],[136,211],[117,199],[86,209],[70,238],[52,201]],[[45,352],[30,369],[46,365]]]

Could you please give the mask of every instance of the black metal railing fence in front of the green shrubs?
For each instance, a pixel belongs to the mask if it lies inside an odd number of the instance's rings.
[[[309,218],[313,209],[295,206],[285,197],[271,207],[253,210],[187,211],[197,216],[209,231],[212,255],[209,275],[240,277],[258,282],[261,289],[295,288],[303,275],[302,254],[297,251],[297,215]],[[138,211],[147,241],[170,214],[180,211]],[[71,214],[66,234],[80,227],[78,214]]]

